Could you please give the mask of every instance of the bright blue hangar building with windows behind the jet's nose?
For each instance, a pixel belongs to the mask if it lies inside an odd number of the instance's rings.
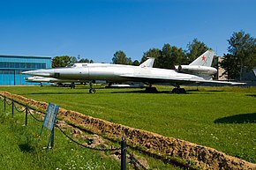
[[[31,85],[21,72],[48,68],[50,56],[0,55],[0,85]]]

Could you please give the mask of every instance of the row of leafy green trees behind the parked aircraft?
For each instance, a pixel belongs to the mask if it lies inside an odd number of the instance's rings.
[[[225,70],[224,74],[228,75],[228,78],[240,78],[245,70],[251,70],[256,67],[256,39],[249,33],[245,33],[243,30],[237,33],[233,33],[228,40],[228,54],[223,55],[221,67]],[[187,49],[177,48],[171,46],[169,43],[163,45],[160,48],[150,48],[143,53],[140,61],[132,61],[131,57],[125,55],[124,51],[117,50],[112,57],[112,63],[115,64],[128,64],[139,65],[147,60],[147,57],[154,57],[154,67],[162,69],[171,69],[173,65],[189,64],[192,63],[198,56],[210,49],[207,45],[193,39],[187,44]],[[55,56],[52,60],[52,67],[66,67],[72,63],[94,63],[90,59],[78,60],[74,56]],[[213,65],[217,67],[218,63]]]

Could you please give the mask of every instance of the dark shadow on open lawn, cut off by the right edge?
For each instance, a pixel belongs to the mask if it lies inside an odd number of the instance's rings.
[[[215,123],[256,123],[256,113],[231,115],[215,120]]]

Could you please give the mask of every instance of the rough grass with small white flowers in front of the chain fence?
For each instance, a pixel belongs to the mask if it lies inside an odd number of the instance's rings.
[[[1,170],[41,169],[120,169],[119,162],[96,152],[79,147],[55,130],[55,146],[46,154],[49,133],[41,130],[41,122],[28,119],[25,114],[15,113],[11,118],[11,106],[4,114],[0,104],[0,167]]]

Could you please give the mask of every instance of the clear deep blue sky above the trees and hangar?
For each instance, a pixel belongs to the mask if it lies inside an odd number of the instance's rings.
[[[111,63],[194,38],[227,53],[228,39],[256,34],[254,0],[8,0],[0,2],[0,55],[72,55]]]

